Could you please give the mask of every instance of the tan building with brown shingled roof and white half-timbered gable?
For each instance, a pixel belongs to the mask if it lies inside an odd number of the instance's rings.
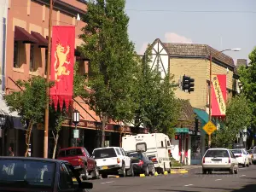
[[[189,100],[198,119],[201,120],[201,127],[208,121],[210,55],[212,55],[212,74],[226,74],[227,94],[228,96],[236,94],[238,76],[230,56],[220,53],[207,44],[163,43],[159,38],[154,40],[152,47],[151,66],[158,68],[162,77],[171,73],[177,84],[181,83],[183,75],[195,79],[195,91],[189,94],[177,89],[175,95],[180,99]],[[201,154],[205,151],[205,137],[204,131],[201,131]]]

